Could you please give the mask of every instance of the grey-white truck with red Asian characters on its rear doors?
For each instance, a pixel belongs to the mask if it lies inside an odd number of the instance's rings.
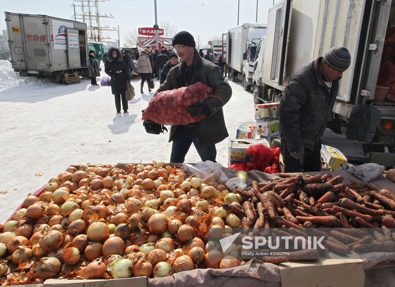
[[[22,77],[88,76],[87,24],[47,15],[5,12],[11,65]]]

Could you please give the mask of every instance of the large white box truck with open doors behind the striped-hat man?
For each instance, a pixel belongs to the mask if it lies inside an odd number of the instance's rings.
[[[369,162],[395,162],[395,103],[378,99],[383,46],[394,37],[391,0],[282,0],[269,9],[267,35],[254,63],[254,103],[280,101],[292,75],[333,46],[350,51],[328,128],[345,133],[351,110],[367,101],[381,113],[380,143],[363,144]],[[387,32],[387,33],[386,33]],[[383,58],[384,59],[384,58]],[[382,66],[382,65],[381,65]],[[376,97],[375,97],[376,94]],[[384,154],[384,147],[389,153]]]

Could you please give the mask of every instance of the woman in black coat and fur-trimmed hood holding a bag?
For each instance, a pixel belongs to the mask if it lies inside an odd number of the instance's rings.
[[[111,77],[111,92],[115,98],[115,108],[117,113],[121,112],[121,98],[122,108],[124,113],[128,112],[128,101],[126,101],[126,79],[129,79],[128,67],[122,59],[122,53],[117,47],[111,47],[108,50],[108,58],[104,63],[104,71]]]

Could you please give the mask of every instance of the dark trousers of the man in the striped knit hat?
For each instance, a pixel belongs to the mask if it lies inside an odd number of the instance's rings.
[[[305,148],[303,165],[299,159],[291,156],[284,139],[281,139],[281,153],[284,160],[284,173],[301,173],[302,171],[307,173],[321,170],[321,140],[313,150]]]

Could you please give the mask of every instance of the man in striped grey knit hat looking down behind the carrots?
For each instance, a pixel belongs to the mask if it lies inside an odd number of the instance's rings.
[[[281,97],[279,119],[285,173],[321,170],[321,137],[350,62],[347,48],[332,47],[290,79]]]

